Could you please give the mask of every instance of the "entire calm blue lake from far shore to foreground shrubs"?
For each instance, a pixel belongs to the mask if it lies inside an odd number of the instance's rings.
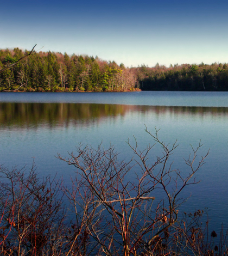
[[[153,143],[145,133],[155,126],[161,141],[179,147],[172,160],[183,173],[183,157],[201,140],[199,157],[210,148],[206,164],[199,170],[200,184],[189,186],[183,197],[191,197],[183,210],[208,208],[212,228],[219,230],[226,218],[228,93],[135,92],[135,93],[1,93],[0,153],[5,166],[27,168],[33,159],[41,175],[74,175],[72,166],[56,159],[67,156],[78,143],[97,147],[115,145],[121,159],[134,156],[126,143],[136,137],[141,148]]]

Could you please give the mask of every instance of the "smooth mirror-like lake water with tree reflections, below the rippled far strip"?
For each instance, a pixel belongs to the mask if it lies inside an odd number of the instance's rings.
[[[126,144],[128,138],[134,143],[133,136],[136,136],[144,149],[153,143],[144,132],[144,124],[151,131],[156,126],[161,128],[160,138],[164,142],[173,143],[178,139],[180,146],[172,161],[174,168],[183,172],[187,170],[183,157],[192,153],[189,143],[193,147],[197,147],[200,140],[204,143],[200,155],[211,148],[205,166],[197,174],[202,182],[199,186],[189,186],[183,197],[192,194],[187,210],[208,207],[210,217],[221,223],[228,211],[228,205],[224,204],[228,193],[227,117],[226,107],[2,102],[0,164],[24,167],[35,157],[41,175],[58,173],[67,179],[73,170],[54,157],[57,153],[66,156],[67,151],[75,151],[79,142],[96,148],[103,141],[104,148],[114,144],[121,153],[119,157],[128,159],[132,157]],[[228,223],[225,224],[228,227]]]

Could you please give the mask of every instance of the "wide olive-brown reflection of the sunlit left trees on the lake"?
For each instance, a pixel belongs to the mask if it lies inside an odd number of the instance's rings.
[[[90,103],[0,103],[0,124],[5,127],[47,127],[93,124],[106,117],[125,115],[134,106]]]

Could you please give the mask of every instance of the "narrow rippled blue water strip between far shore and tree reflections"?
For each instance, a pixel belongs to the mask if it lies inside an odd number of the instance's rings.
[[[42,94],[42,95],[41,95]],[[8,93],[0,102],[103,103],[144,106],[228,107],[228,92]]]

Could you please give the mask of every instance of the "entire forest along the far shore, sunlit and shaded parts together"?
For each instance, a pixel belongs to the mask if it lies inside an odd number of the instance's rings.
[[[93,56],[0,50],[0,92],[227,91],[226,63],[125,67]],[[16,63],[12,68],[7,66]]]

